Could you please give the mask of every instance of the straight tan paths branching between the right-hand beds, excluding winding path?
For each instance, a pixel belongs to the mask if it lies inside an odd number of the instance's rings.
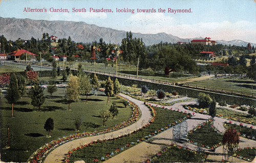
[[[185,110],[182,105],[195,104],[195,103],[197,103],[196,100],[188,101],[188,102],[180,102],[180,103],[176,103],[172,106],[165,106],[165,108],[166,107],[168,109],[173,108],[173,110],[176,110],[176,111],[177,110],[179,110],[180,112],[186,111],[186,112],[190,112],[192,114],[193,113],[192,111]],[[156,104],[153,104],[153,103],[152,103],[152,105],[156,106]],[[208,116],[208,115],[195,113],[195,116],[193,116],[190,119],[187,119],[187,130],[191,130],[191,129],[195,128],[196,126],[207,121],[208,119],[210,119],[210,116]],[[223,126],[223,123],[225,121],[227,121],[227,120],[223,119],[223,118],[215,117],[214,118],[214,126],[221,132],[224,132],[225,127]],[[232,122],[234,123],[235,121],[232,121]],[[240,122],[237,122],[237,123],[240,123]],[[253,128],[256,128],[256,126],[253,126]],[[152,155],[155,155],[157,152],[159,152],[163,146],[168,146],[170,144],[177,144],[179,146],[187,147],[192,150],[196,150],[196,148],[197,148],[197,146],[194,144],[190,144],[190,143],[181,144],[181,143],[174,142],[173,141],[173,127],[170,127],[169,129],[155,135],[151,139],[149,139],[145,142],[142,142],[130,149],[127,149],[127,150],[123,151],[122,153],[104,161],[104,163],[143,162],[146,159],[150,158]],[[240,142],[239,146],[240,146],[240,148],[255,147],[256,141],[241,138],[241,142]],[[208,150],[206,148],[204,148],[203,150],[212,153],[212,155],[209,154],[207,156],[207,159],[221,162],[221,160],[223,159],[222,155],[216,155],[215,153],[223,153],[222,147],[223,146],[218,147],[215,152],[211,152],[210,150]],[[243,159],[239,159],[239,158],[235,158],[235,157],[233,157],[232,160],[233,160],[233,162],[246,162]]]

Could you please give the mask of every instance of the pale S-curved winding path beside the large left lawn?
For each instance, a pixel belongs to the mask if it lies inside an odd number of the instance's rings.
[[[135,122],[132,125],[129,125],[127,127],[124,127],[122,129],[113,131],[113,132],[108,132],[108,133],[105,133],[105,134],[95,135],[95,136],[92,136],[92,137],[81,138],[81,139],[73,140],[73,141],[70,141],[70,142],[65,143],[63,145],[60,145],[59,147],[55,148],[51,153],[49,153],[47,155],[44,162],[45,163],[63,162],[63,159],[65,158],[65,155],[73,148],[76,148],[76,147],[84,145],[84,144],[89,144],[89,143],[91,143],[92,141],[95,141],[95,140],[112,139],[114,137],[116,138],[119,135],[135,131],[136,129],[142,127],[143,125],[147,124],[151,120],[151,118],[152,118],[151,111],[149,110],[149,108],[146,105],[144,105],[143,101],[133,99],[133,98],[131,98],[129,96],[126,96],[124,94],[120,94],[120,95],[123,96],[124,98],[127,98],[127,99],[131,100],[132,102],[137,104],[138,107],[140,108],[141,117],[137,122]]]

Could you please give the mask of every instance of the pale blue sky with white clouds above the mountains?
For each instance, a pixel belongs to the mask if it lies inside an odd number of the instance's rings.
[[[253,0],[0,0],[0,16],[44,20],[83,21],[116,30],[156,34],[164,32],[180,38],[210,37],[212,40],[244,40],[256,43],[256,2]],[[47,12],[24,12],[24,8]],[[68,9],[53,13],[49,9]],[[73,13],[85,8],[86,13]],[[93,13],[94,9],[112,9],[113,13]],[[135,13],[116,13],[135,9]],[[138,13],[137,9],[156,9],[156,13]],[[159,13],[158,9],[166,13]],[[167,13],[171,9],[191,9],[192,13]]]

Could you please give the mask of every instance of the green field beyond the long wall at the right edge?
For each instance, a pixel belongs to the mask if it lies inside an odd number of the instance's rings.
[[[256,94],[256,82],[251,79],[241,79],[241,77],[217,77],[210,78],[195,82],[189,82],[185,85],[206,87],[206,88],[215,88],[220,90],[229,90],[236,92],[243,92],[246,94]]]

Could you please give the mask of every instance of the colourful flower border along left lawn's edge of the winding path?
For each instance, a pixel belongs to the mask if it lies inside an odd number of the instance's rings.
[[[122,96],[118,95],[118,97],[120,97],[124,100],[127,100],[126,98],[124,98]],[[46,145],[44,145],[44,146],[40,147],[38,150],[36,150],[30,156],[30,158],[28,159],[27,162],[32,162],[32,163],[42,162],[45,159],[46,155],[50,151],[52,151],[53,149],[55,149],[59,145],[67,143],[69,141],[84,138],[84,137],[91,137],[91,136],[98,135],[98,134],[103,134],[103,133],[106,133],[106,132],[112,132],[114,130],[118,130],[120,128],[126,127],[127,125],[130,125],[130,124],[136,122],[139,119],[139,117],[141,116],[141,112],[139,110],[139,107],[135,103],[133,103],[132,101],[130,101],[130,100],[127,100],[127,101],[129,101],[129,104],[133,108],[133,114],[131,115],[131,118],[129,118],[127,121],[125,121],[125,122],[123,122],[119,125],[115,125],[112,128],[107,128],[105,130],[94,131],[94,132],[76,133],[76,134],[71,134],[67,137],[63,137],[63,138],[59,138],[57,140],[53,140],[50,143],[47,143]]]

